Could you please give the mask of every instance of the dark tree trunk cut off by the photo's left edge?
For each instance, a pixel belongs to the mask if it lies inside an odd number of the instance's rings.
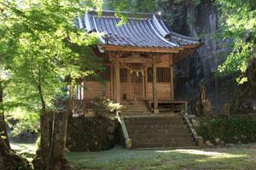
[[[7,134],[7,125],[4,119],[4,109],[3,109],[3,82],[0,80],[0,136],[3,136],[3,142],[6,144],[10,150],[9,138]]]

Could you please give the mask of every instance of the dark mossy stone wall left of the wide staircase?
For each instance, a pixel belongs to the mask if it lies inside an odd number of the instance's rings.
[[[67,149],[109,150],[119,142],[119,124],[105,116],[73,117],[67,125]]]

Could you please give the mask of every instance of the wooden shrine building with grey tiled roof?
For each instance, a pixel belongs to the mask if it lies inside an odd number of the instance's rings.
[[[154,14],[131,14],[128,22],[117,26],[113,11],[98,16],[92,11],[79,18],[79,27],[87,32],[101,32],[97,46],[106,70],[99,73],[107,81],[102,85],[93,77],[84,81],[83,98],[104,95],[125,104],[148,103],[158,113],[160,104],[176,101],[173,65],[201,46],[201,40],[169,31]]]

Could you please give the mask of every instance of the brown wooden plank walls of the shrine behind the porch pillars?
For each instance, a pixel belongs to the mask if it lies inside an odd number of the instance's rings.
[[[148,67],[147,71],[144,71],[142,79],[137,78],[137,81],[139,80],[141,82],[134,82],[134,77],[136,77],[135,72],[131,73],[131,71],[128,71],[126,68],[124,68],[124,66],[117,64],[117,61],[113,61],[111,63],[108,62],[107,65],[110,69],[110,71],[108,71],[108,81],[110,82],[102,84],[101,82],[84,81],[85,99],[93,99],[99,95],[106,95],[106,97],[109,99],[119,98],[118,100],[120,101],[124,99],[133,100],[134,95],[136,94],[134,87],[138,83],[141,83],[143,86],[137,89],[140,92],[140,94],[138,94],[140,96],[137,96],[137,99],[153,100],[153,75],[150,71],[148,73],[148,69],[151,69],[152,71],[152,66]],[[119,68],[118,72],[116,72],[117,68]],[[156,65],[156,94],[158,100],[173,99],[173,71],[171,68],[172,54],[161,55],[160,63],[157,63]],[[151,76],[149,74],[151,74]],[[119,86],[119,88],[117,88],[117,86]]]

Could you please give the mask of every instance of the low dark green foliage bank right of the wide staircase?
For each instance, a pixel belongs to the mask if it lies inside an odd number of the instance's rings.
[[[255,116],[218,116],[201,119],[198,133],[212,143],[217,138],[224,143],[250,143],[256,141],[255,124]]]

